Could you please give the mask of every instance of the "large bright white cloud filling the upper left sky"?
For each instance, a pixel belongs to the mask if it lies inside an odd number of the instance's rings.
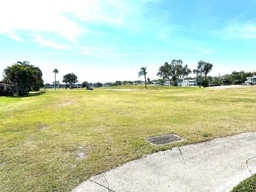
[[[87,31],[76,19],[114,22],[114,15],[107,16],[99,0],[4,1],[0,6],[0,34],[14,34],[16,31],[49,32],[76,43],[77,38]]]

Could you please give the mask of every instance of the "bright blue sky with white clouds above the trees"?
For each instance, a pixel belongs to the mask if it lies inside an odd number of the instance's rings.
[[[212,62],[213,76],[253,71],[255,10],[256,0],[5,1],[0,71],[28,60],[45,83],[54,81],[54,68],[59,81],[70,72],[79,82],[137,80],[142,66],[154,79],[172,59],[191,69]]]

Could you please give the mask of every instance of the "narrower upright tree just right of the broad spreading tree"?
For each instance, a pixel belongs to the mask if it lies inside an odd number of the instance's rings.
[[[209,79],[207,79],[207,74],[212,70],[212,63],[205,61],[198,61],[197,68],[193,70],[193,73],[196,74],[197,78],[199,78],[199,85],[208,86]]]

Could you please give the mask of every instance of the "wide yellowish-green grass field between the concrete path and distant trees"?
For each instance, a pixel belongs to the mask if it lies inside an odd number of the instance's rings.
[[[256,86],[143,87],[48,90],[18,102],[0,97],[0,191],[70,191],[156,151],[256,131]],[[145,141],[172,132],[185,141]]]

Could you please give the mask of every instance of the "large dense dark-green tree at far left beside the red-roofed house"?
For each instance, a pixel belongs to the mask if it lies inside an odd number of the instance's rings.
[[[4,81],[15,84],[20,96],[26,95],[31,89],[39,91],[43,86],[42,71],[29,61],[18,61],[4,69]]]

